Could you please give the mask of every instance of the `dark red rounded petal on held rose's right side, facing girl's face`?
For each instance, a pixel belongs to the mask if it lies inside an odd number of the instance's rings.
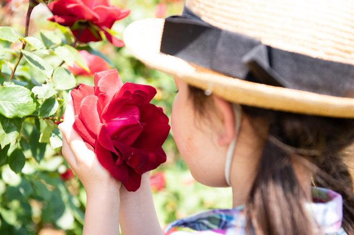
[[[132,147],[152,151],[165,142],[170,126],[168,117],[158,107],[148,103],[140,109],[140,123],[144,129]]]

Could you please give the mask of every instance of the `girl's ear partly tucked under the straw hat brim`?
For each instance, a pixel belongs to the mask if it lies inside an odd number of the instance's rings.
[[[222,117],[222,131],[218,133],[218,144],[220,146],[229,145],[235,137],[235,114],[231,103],[212,95],[216,109]],[[240,121],[240,120],[238,120]]]

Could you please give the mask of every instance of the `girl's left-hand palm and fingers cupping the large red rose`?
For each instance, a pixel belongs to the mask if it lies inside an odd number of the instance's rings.
[[[62,154],[65,160],[81,180],[87,194],[105,186],[107,188],[117,187],[119,190],[121,182],[113,178],[98,162],[96,154],[86,147],[82,138],[73,129],[73,123],[73,100],[69,93],[64,121],[58,126],[63,134]]]

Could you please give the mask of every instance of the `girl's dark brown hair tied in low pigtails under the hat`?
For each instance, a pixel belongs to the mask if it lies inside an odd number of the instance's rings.
[[[195,110],[205,115],[212,102],[190,86]],[[209,109],[210,110],[210,109]],[[305,211],[305,192],[291,160],[314,172],[313,185],[334,190],[343,197],[342,227],[354,234],[353,181],[343,152],[354,142],[354,119],[308,116],[242,106],[254,128],[266,123],[268,134],[248,201],[247,228],[256,234],[316,234]],[[272,141],[273,140],[273,141]],[[274,140],[281,144],[275,144]]]

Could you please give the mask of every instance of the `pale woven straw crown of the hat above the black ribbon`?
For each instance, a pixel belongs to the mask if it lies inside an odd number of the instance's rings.
[[[354,1],[186,0],[198,17],[286,51],[354,65]]]

